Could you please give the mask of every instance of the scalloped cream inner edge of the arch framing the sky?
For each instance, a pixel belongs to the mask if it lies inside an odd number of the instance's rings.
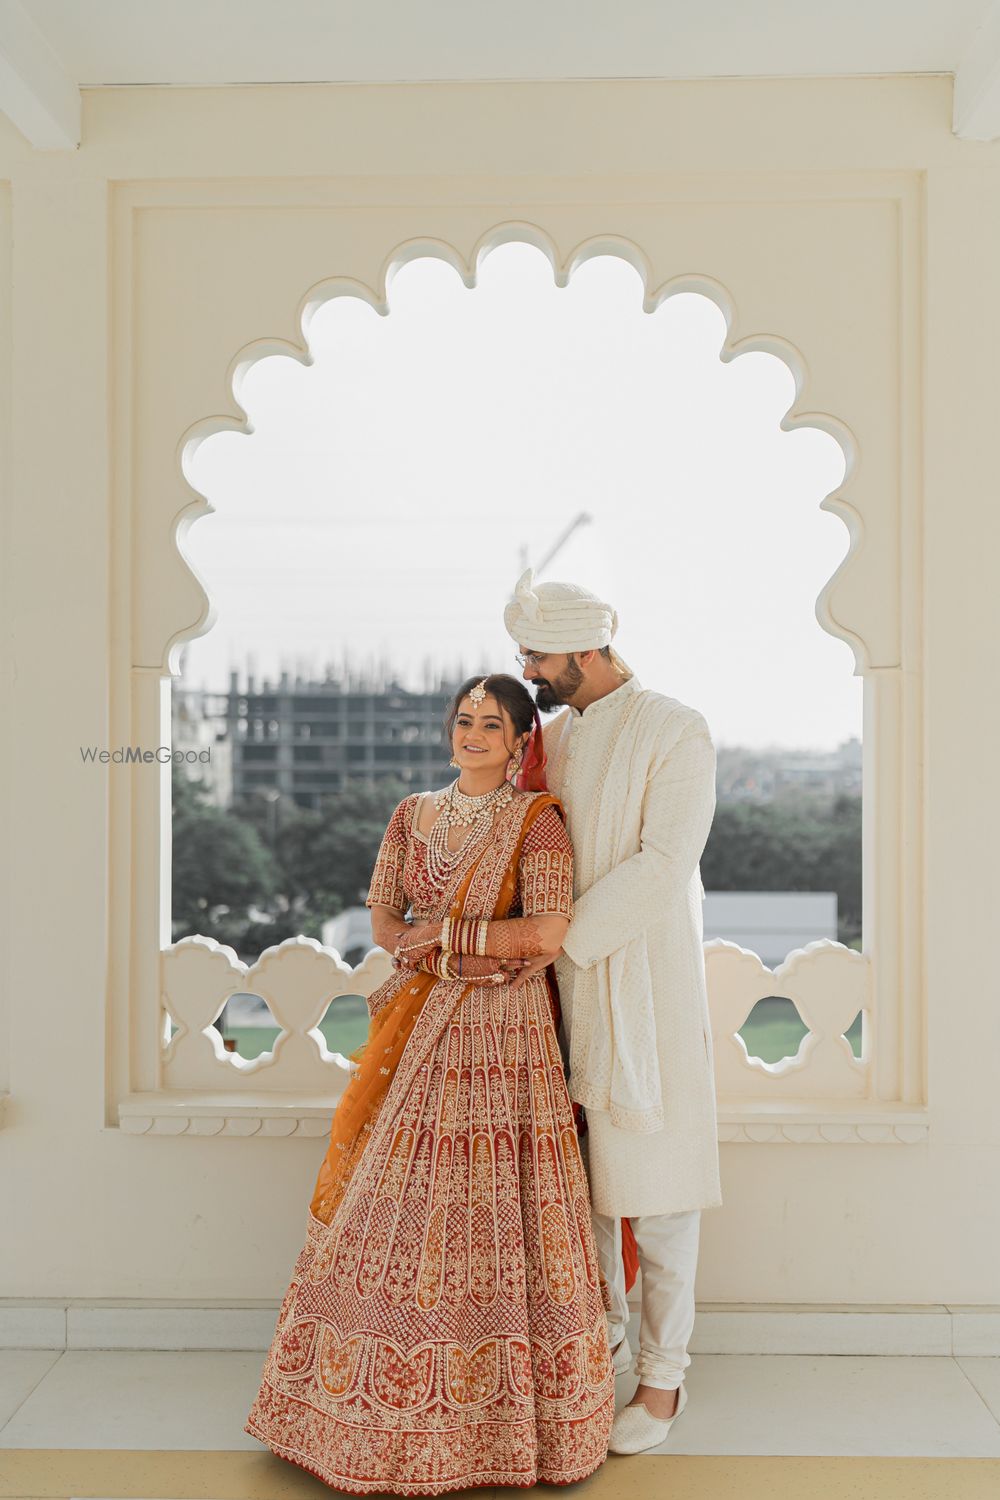
[[[849,482],[858,470],[859,448],[850,428],[837,416],[823,411],[811,411],[808,406],[799,405],[808,384],[808,364],[802,351],[778,333],[741,333],[736,300],[730,294],[729,288],[712,276],[687,272],[670,276],[660,285],[652,286],[652,266],[649,256],[634,240],[615,234],[591,236],[580,240],[570,250],[561,252],[555,238],[544,228],[532,224],[531,220],[505,220],[496,224],[478,237],[468,255],[463,255],[462,250],[450,240],[433,237],[414,237],[403,240],[382,261],[375,286],[370,286],[355,278],[333,276],[316,282],[304,292],[297,309],[301,344],[295,344],[288,339],[255,339],[237,351],[229,362],[226,380],[243,416],[204,417],[183,434],[177,446],[178,464],[181,466],[181,472],[184,474],[187,488],[193,492],[193,498],[190,504],[183,507],[175,518],[174,544],[184,567],[198,585],[202,596],[202,609],[198,620],[171,634],[163,650],[163,670],[172,676],[178,675],[180,652],[184,642],[205,634],[214,626],[217,618],[207,584],[199,576],[192,558],[184,549],[184,538],[193,522],[201,516],[211,514],[214,507],[210,500],[192,484],[186,468],[196,448],[217,432],[241,432],[246,435],[253,432],[253,424],[250,423],[246,408],[240,399],[243,381],[250,366],[258,360],[268,358],[271,356],[285,356],[297,360],[300,364],[312,364],[309,330],[319,308],[322,308],[327,302],[333,302],[336,297],[357,297],[360,302],[367,303],[379,316],[388,316],[391,310],[390,290],[393,279],[405,266],[415,260],[430,258],[444,261],[447,266],[451,266],[469,290],[474,290],[483,261],[495,249],[511,243],[531,244],[534,249],[540,250],[552,267],[556,286],[561,288],[568,285],[574,270],[595,256],[612,255],[625,261],[640,278],[643,288],[643,312],[655,312],[669,297],[679,292],[694,292],[697,296],[708,297],[715,303],[726,321],[726,339],[720,348],[720,358],[724,363],[739,358],[741,354],[757,352],[771,354],[789,368],[795,381],[795,400],[781,418],[781,429],[792,432],[799,428],[817,428],[832,436],[844,453],[844,478],[820,501],[820,508],[838,516],[840,520],[844,522],[849,544],[841,562],[826,580],[817,597],[816,618],[828,634],[844,640],[852,648],[855,656],[855,672],[856,675],[864,675],[870,664],[867,644],[859,630],[853,628],[849,621],[838,620],[832,610],[832,597],[837,584],[852,568],[864,540],[862,518],[858,508],[844,495]]]

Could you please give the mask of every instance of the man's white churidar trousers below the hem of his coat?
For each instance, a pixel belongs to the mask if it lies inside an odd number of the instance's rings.
[[[643,1214],[631,1221],[642,1270],[642,1317],[636,1372],[646,1386],[676,1390],[691,1364],[688,1342],[694,1328],[694,1272],[699,1258],[702,1210]],[[625,1336],[628,1304],[622,1266],[622,1221],[594,1215],[594,1238],[601,1272],[610,1292],[607,1336],[612,1348]]]

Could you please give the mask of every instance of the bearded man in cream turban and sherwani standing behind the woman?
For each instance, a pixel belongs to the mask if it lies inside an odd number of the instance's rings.
[[[532,969],[556,962],[619,1374],[631,1366],[622,1218],[639,1250],[639,1388],[610,1443],[637,1454],[685,1406],[700,1210],[721,1202],[699,876],[715,750],[696,710],[643,688],[612,651],[618,615],[588,590],[528,570],[504,622],[538,708],[565,705],[544,746],[576,910],[562,952]]]

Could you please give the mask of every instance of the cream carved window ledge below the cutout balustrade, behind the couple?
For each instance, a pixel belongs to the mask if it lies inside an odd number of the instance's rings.
[[[126,1136],[316,1138],[328,1132],[336,1100],[300,1094],[132,1094],[118,1104],[118,1125]],[[927,1110],[900,1104],[730,1100],[718,1112],[724,1144],[919,1146],[928,1131]]]

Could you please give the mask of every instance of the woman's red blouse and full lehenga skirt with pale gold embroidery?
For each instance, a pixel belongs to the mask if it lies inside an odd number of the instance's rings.
[[[495,915],[525,810],[520,794],[498,819],[465,915]],[[411,825],[408,800],[372,891],[436,916],[445,897]],[[553,807],[514,868],[508,915],[570,914]],[[394,975],[372,1016],[411,984]],[[358,1494],[586,1478],[607,1450],[613,1372],[544,976],[514,992],[436,981],[372,1124],[330,1222],[309,1220],[247,1431]]]

